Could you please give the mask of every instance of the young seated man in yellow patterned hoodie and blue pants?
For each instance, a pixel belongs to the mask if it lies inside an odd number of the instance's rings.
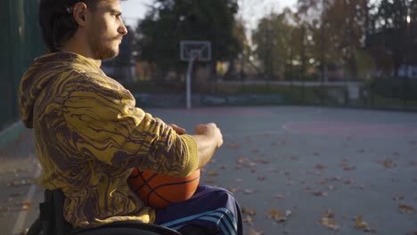
[[[119,0],[41,0],[39,22],[51,51],[22,77],[20,115],[34,129],[39,183],[65,194],[75,228],[114,221],[179,231],[241,234],[239,207],[226,190],[200,186],[194,197],[154,210],[127,186],[132,167],[184,176],[205,166],[223,137],[214,123],[196,134],[135,108],[132,94],[100,69],[127,34]]]

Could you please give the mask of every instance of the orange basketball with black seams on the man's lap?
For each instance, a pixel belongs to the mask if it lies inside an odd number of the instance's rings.
[[[200,182],[200,170],[186,177],[174,177],[134,168],[127,178],[131,190],[152,208],[163,208],[190,199]]]

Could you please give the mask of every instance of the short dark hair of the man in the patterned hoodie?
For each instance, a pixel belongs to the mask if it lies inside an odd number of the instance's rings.
[[[72,7],[79,3],[94,11],[102,0],[41,0],[39,4],[39,24],[44,43],[52,53],[60,50],[78,29],[72,15]]]

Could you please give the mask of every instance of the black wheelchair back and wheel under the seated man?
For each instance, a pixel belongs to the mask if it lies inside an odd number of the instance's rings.
[[[166,227],[133,221],[74,229],[63,218],[64,199],[61,190],[45,190],[45,201],[39,204],[40,215],[26,235],[181,235]]]

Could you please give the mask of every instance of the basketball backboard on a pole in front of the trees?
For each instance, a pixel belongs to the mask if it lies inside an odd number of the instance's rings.
[[[211,43],[209,41],[181,41],[180,60],[190,61],[192,59],[197,59],[198,61],[210,61]]]

